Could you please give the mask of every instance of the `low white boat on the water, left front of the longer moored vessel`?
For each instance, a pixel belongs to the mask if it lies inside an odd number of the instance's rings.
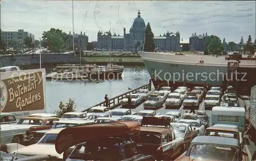
[[[52,80],[87,80],[88,76],[81,75],[80,73],[73,73],[73,72],[53,72],[46,76],[46,79]]]

